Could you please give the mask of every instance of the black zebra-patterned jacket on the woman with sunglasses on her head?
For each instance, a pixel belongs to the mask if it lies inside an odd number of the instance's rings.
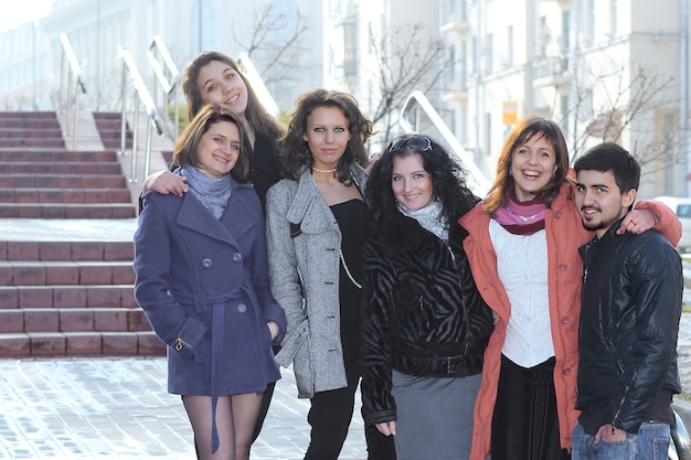
[[[362,415],[396,419],[392,368],[415,376],[479,374],[493,329],[454,225],[446,244],[415,220],[376,225],[363,253]]]

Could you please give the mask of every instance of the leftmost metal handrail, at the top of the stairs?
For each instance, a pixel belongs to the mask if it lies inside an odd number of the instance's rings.
[[[65,33],[60,34],[61,58],[60,58],[60,110],[65,116],[65,136],[72,136],[72,150],[76,150],[77,138],[79,132],[79,122],[77,115],[79,113],[79,89],[86,94],[86,87],[82,81],[82,69],[77,62],[76,55],[72,50],[70,39]],[[67,72],[67,82],[65,83],[65,66],[70,65]],[[72,86],[72,78],[75,84]],[[72,118],[72,126],[70,119]],[[71,129],[72,128],[72,129]]]

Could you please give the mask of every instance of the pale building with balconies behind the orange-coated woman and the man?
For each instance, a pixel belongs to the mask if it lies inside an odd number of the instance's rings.
[[[454,130],[485,170],[517,118],[562,126],[572,159],[603,140],[644,167],[640,196],[688,195],[688,0],[446,0],[461,56]]]

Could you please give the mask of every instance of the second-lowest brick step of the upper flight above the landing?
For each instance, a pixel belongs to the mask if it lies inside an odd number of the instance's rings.
[[[128,189],[0,189],[0,203],[130,203]]]

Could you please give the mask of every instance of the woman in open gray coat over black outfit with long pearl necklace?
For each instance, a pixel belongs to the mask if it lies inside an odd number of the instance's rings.
[[[267,194],[272,291],[288,331],[276,360],[293,363],[298,397],[310,398],[305,459],[336,460],[360,379],[362,197],[372,124],[349,95],[315,89],[295,104]],[[365,431],[370,459],[395,458],[391,439]]]

